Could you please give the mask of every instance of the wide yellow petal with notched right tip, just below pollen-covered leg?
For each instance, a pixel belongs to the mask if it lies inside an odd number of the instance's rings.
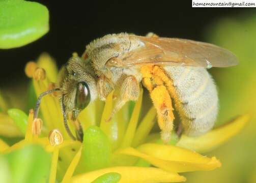
[[[149,154],[141,153],[141,151],[136,150],[132,147],[120,149],[116,153],[143,158],[146,161],[150,162],[152,165],[170,172],[213,170],[221,166],[220,162],[216,160],[215,157],[213,157],[212,159],[206,158],[187,149],[177,149],[179,147],[168,147],[169,145],[160,144],[147,144],[146,146],[147,147],[139,147],[139,149],[147,151],[147,153]],[[148,147],[150,147],[151,149],[148,149]],[[166,157],[167,153],[165,150],[167,150],[169,155],[172,155],[172,153],[174,154],[172,160],[170,160],[169,157]]]

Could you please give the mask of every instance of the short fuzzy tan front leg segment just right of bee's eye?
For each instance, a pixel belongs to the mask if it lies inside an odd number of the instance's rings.
[[[101,75],[97,82],[97,90],[100,100],[105,101],[107,95],[113,90],[112,83],[104,75]]]

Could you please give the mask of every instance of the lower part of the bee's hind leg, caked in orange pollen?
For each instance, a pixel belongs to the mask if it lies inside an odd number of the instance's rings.
[[[164,143],[170,140],[170,133],[173,130],[173,106],[170,95],[165,86],[156,86],[150,91],[150,97],[157,110],[158,125],[161,129],[161,139]]]

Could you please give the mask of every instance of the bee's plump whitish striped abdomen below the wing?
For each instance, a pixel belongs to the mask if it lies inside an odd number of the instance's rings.
[[[218,96],[213,79],[201,67],[165,66],[173,80],[176,108],[180,114],[184,132],[197,136],[209,131],[218,113]],[[172,95],[172,94],[171,94]]]

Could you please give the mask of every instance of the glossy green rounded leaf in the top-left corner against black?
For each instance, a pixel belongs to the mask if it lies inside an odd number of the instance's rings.
[[[29,44],[49,31],[48,9],[36,2],[0,1],[0,48]]]

